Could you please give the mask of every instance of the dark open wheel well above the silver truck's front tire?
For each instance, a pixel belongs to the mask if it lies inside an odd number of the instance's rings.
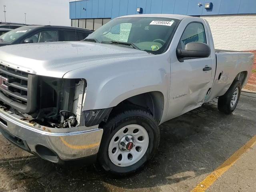
[[[160,122],[164,110],[164,96],[158,91],[132,96],[115,106],[111,113],[115,113],[117,110],[123,110],[124,108],[136,107],[147,110],[154,116],[157,122]]]

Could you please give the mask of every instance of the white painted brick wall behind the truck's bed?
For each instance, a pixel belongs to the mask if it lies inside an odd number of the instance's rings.
[[[210,24],[216,49],[256,50],[256,14],[200,17]]]

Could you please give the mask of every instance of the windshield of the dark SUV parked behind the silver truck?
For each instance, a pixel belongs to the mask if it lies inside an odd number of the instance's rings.
[[[0,40],[10,43],[19,38],[20,36],[24,35],[25,33],[28,33],[30,30],[32,30],[31,27],[19,27],[1,35]]]

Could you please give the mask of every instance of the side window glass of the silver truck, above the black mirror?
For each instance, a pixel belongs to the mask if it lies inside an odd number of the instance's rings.
[[[185,45],[190,42],[206,43],[205,30],[202,23],[190,23],[184,30],[178,48],[184,49]]]

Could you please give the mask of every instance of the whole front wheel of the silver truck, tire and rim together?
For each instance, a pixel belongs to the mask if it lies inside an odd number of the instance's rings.
[[[143,168],[159,144],[159,128],[146,110],[126,110],[103,126],[98,160],[113,174],[126,175]]]

